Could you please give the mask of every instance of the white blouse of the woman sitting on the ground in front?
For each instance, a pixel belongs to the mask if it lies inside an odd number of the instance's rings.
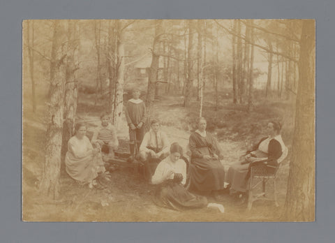
[[[183,180],[181,181],[181,184],[186,183],[186,163],[183,159],[179,159],[175,163],[173,163],[170,159],[170,156],[168,156],[166,159],[161,161],[161,163],[158,164],[156,171],[154,175],[151,178],[152,184],[160,184],[165,181],[165,179],[173,179],[174,174],[172,174],[169,178],[166,178],[168,173],[172,171],[174,173],[180,173],[183,175]]]

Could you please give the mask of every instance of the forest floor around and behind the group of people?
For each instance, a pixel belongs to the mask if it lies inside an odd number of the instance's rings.
[[[77,117],[87,121],[89,131],[100,122],[103,108],[94,108],[93,98],[81,101]],[[183,147],[195,128],[199,105],[193,101],[191,108],[182,107],[182,97],[161,96],[154,103],[153,114],[161,120],[161,128],[168,133],[170,142],[179,142]],[[294,121],[294,107],[286,101],[259,101],[253,112],[248,113],[244,105],[232,105],[228,99],[221,100],[218,111],[211,102],[204,103],[207,130],[215,133],[224,152],[223,164],[237,161],[246,146],[265,135],[265,127],[271,119],[284,120],[283,140],[290,149]],[[28,109],[28,108],[27,108]],[[124,118],[123,118],[124,119]],[[158,207],[152,198],[156,186],[144,182],[142,176],[133,170],[119,169],[112,172],[112,181],[107,189],[89,189],[78,185],[64,170],[61,172],[61,196],[51,200],[38,193],[38,182],[43,171],[45,124],[43,107],[38,114],[24,112],[23,136],[23,182],[22,206],[25,221],[278,221],[285,202],[288,180],[288,165],[278,171],[277,196],[279,207],[274,202],[256,201],[250,212],[246,205],[237,205],[237,200],[225,194],[218,202],[225,207],[225,213],[218,209],[203,208],[178,212]],[[118,127],[119,138],[127,138],[128,127],[123,122]],[[247,141],[247,142],[246,142]],[[271,186],[269,187],[271,191]],[[271,196],[271,193],[270,193]],[[215,202],[208,197],[209,202]]]

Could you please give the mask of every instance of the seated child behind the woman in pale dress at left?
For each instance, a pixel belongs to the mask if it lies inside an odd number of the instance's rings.
[[[108,156],[106,160],[108,161],[114,158],[114,150],[117,150],[119,140],[117,140],[117,130],[109,122],[110,116],[108,112],[103,112],[100,119],[101,125],[94,130],[91,143],[100,148],[103,147],[103,145],[107,145]]]

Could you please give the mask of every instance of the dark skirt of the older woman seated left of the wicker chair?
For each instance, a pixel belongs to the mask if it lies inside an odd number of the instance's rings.
[[[216,159],[192,158],[190,170],[191,189],[217,191],[225,187],[225,168]]]

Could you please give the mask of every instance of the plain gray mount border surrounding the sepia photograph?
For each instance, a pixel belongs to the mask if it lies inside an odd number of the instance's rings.
[[[0,242],[334,242],[335,2],[311,0],[0,1]],[[316,221],[24,223],[21,221],[22,20],[315,18]]]

